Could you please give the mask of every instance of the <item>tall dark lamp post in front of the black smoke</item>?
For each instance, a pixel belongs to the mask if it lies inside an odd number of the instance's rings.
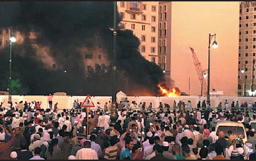
[[[113,93],[111,103],[111,123],[116,123],[117,117],[117,106],[116,103],[116,1],[114,1],[114,24],[113,24]]]

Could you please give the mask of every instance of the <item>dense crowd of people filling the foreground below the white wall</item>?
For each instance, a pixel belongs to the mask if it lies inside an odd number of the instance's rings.
[[[48,100],[52,104],[52,100]],[[226,101],[227,102],[227,101]],[[49,104],[50,104],[49,103]],[[35,105],[34,105],[35,104]],[[8,103],[0,108],[0,159],[9,160],[249,160],[256,159],[256,114],[238,105],[225,110],[182,100],[173,107],[145,103],[118,108],[111,120],[111,102],[87,113],[36,108],[41,103]],[[234,102],[232,104],[235,104]],[[227,108],[228,107],[228,108]],[[245,136],[218,131],[212,123],[242,123]]]

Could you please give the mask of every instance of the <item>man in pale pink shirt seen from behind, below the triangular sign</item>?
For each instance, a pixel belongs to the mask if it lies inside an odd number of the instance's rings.
[[[97,152],[91,149],[90,141],[83,142],[83,147],[76,152],[76,160],[98,160]]]

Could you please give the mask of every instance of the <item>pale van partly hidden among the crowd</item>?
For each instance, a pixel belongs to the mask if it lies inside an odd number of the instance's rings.
[[[225,136],[228,137],[227,131],[231,130],[234,135],[240,136],[244,142],[247,142],[247,135],[245,126],[242,123],[233,121],[218,120],[215,131],[223,131]]]

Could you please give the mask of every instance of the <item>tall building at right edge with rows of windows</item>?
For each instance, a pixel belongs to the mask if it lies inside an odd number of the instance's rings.
[[[240,2],[238,96],[252,95],[256,89],[256,1]],[[253,83],[252,83],[253,82]],[[253,85],[252,85],[253,84]]]

